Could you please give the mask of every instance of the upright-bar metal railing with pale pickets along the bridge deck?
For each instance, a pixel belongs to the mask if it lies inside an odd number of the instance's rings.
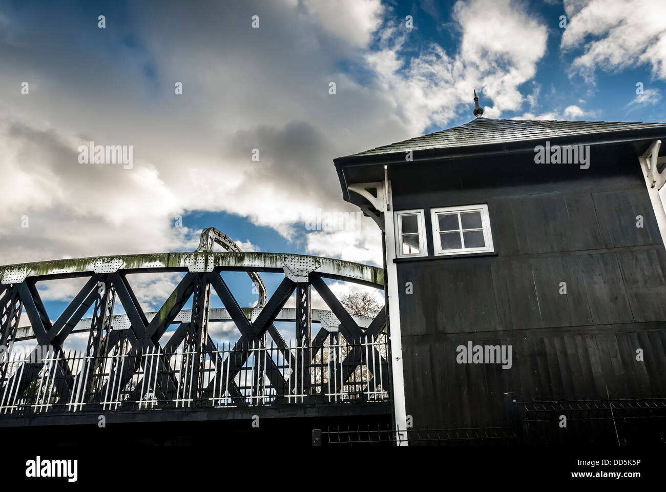
[[[0,417],[25,413],[253,407],[389,399],[386,335],[318,346],[254,341],[204,353],[116,347],[0,364]]]

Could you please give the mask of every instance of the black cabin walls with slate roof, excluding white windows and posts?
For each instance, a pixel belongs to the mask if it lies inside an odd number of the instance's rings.
[[[428,255],[386,259],[415,427],[503,427],[507,392],[666,397],[666,250],[638,160],[665,137],[662,123],[479,118],[336,159],[346,200],[367,209],[347,187],[383,183],[387,165],[394,216],[424,211]],[[546,141],[590,145],[589,169],[536,164]],[[480,204],[494,251],[436,255],[431,209]],[[510,346],[511,367],[458,363],[470,341]]]

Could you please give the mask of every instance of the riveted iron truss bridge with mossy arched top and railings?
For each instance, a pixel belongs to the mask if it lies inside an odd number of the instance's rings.
[[[214,243],[227,251],[213,251]],[[172,272],[185,274],[158,311],[144,312],[127,276]],[[256,307],[238,305],[224,272],[250,276]],[[270,298],[261,272],[284,274]],[[87,281],[52,322],[37,283],[74,277]],[[194,253],[0,266],[0,347],[38,344],[32,353],[9,352],[0,361],[0,426],[25,425],[26,419],[83,423],[100,411],[119,421],[183,419],[183,412],[195,419],[240,419],[257,407],[272,417],[388,415],[384,309],[374,318],[352,315],[324,279],[384,288],[382,269],[243,252],[212,228],[204,229]],[[312,288],[329,309],[312,309]],[[210,307],[212,293],[224,309]],[[294,293],[296,307],[285,308]],[[191,309],[184,309],[190,299]],[[118,303],[125,314],[114,314]],[[93,315],[83,318],[91,307]],[[30,326],[19,328],[23,311]],[[214,343],[208,324],[215,321],[234,323],[236,343]],[[274,325],[279,321],[294,323],[294,341],[282,338]],[[85,332],[85,351],[63,349],[68,337]]]

